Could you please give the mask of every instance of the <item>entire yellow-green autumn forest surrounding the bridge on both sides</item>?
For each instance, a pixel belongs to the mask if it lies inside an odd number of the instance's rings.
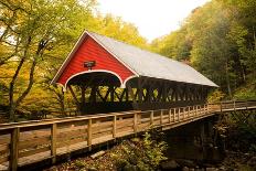
[[[74,107],[68,92],[50,82],[84,30],[193,66],[220,86],[209,100],[255,99],[255,0],[212,0],[152,42],[97,6],[96,0],[0,0],[0,105],[8,107],[9,120],[15,111]]]

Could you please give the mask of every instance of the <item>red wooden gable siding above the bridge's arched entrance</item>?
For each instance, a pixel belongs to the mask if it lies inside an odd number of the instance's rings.
[[[96,61],[96,66],[93,67],[93,71],[106,70],[114,72],[119,75],[122,83],[126,78],[135,75],[130,70],[102,47],[94,39],[87,35],[64,68],[62,75],[57,79],[57,83],[65,85],[68,78],[73,75],[88,71],[84,67],[85,61]]]

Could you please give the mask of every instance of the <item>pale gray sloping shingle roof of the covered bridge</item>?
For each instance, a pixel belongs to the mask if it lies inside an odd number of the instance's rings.
[[[104,35],[88,31],[86,33],[139,76],[217,87],[215,83],[184,63],[143,51]]]

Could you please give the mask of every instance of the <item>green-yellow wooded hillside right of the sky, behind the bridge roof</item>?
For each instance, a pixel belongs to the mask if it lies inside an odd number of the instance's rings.
[[[256,77],[255,9],[254,0],[212,0],[194,9],[178,31],[154,40],[152,50],[186,61],[232,98]]]

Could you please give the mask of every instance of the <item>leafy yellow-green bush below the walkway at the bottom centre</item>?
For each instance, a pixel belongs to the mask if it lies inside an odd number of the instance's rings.
[[[142,140],[122,142],[121,149],[111,157],[119,169],[156,170],[160,162],[167,159],[163,154],[166,149],[166,142],[157,142],[149,132],[146,132]]]

